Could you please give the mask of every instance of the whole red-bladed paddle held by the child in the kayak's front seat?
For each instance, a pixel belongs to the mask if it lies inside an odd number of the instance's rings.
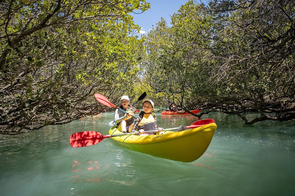
[[[208,119],[204,119],[204,120],[198,120],[196,122],[194,122],[192,125],[184,127],[183,125],[181,125],[178,128],[169,128],[169,129],[164,129],[163,131],[167,131],[167,130],[176,130],[178,129],[178,131],[181,131],[179,129],[181,129],[181,127],[184,129],[185,128],[193,128],[193,127],[200,127],[205,125],[204,122],[205,120]],[[209,123],[212,123],[212,121],[214,122],[213,119],[208,120]],[[209,124],[208,123],[208,124]],[[151,131],[145,131],[145,133],[153,133],[153,132],[158,132],[158,130],[151,130]],[[117,136],[122,136],[122,135],[135,135],[138,134],[140,132],[134,132],[134,133],[122,133],[122,134],[115,134],[115,135],[101,135],[100,133],[96,132],[96,131],[82,131],[82,132],[78,132],[78,133],[73,133],[70,137],[70,144],[72,147],[83,147],[83,146],[90,146],[90,145],[95,145],[99,142],[101,142],[101,140],[103,140],[104,138],[111,138],[111,137],[117,137]]]

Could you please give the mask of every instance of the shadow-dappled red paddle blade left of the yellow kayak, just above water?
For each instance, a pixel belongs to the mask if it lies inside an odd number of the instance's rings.
[[[70,144],[72,147],[91,146],[101,142],[105,137],[95,131],[82,131],[74,133],[70,137]]]

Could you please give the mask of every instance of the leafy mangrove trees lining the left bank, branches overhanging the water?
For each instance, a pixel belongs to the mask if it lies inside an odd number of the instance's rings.
[[[0,133],[99,113],[136,76],[142,41],[129,12],[145,1],[0,1]],[[93,108],[93,110],[91,110]],[[90,111],[91,110],[91,111]]]

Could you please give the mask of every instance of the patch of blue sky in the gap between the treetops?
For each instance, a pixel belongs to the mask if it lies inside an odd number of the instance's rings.
[[[131,14],[135,24],[142,27],[140,33],[148,33],[153,25],[157,24],[163,17],[168,26],[171,26],[171,17],[178,11],[181,5],[189,0],[146,0],[150,3],[150,9],[141,14]]]

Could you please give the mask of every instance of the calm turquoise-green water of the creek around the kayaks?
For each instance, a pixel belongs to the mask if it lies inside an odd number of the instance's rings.
[[[191,115],[157,114],[163,128],[191,125]],[[255,114],[249,114],[255,115]],[[79,131],[108,134],[114,113],[0,135],[0,195],[294,195],[295,120],[245,125],[212,112],[217,130],[207,151],[181,163],[124,149],[106,138],[72,148]]]

